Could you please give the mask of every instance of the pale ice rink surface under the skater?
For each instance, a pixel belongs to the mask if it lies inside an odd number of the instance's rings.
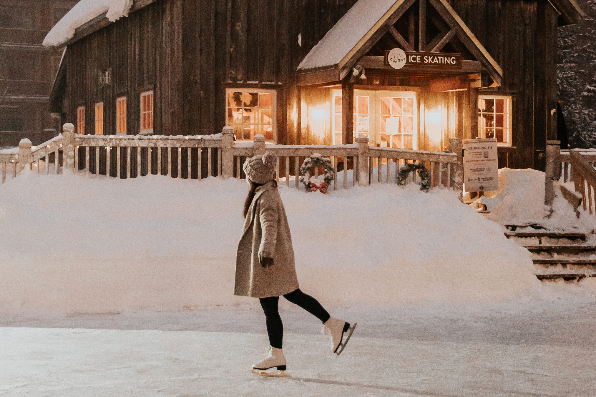
[[[250,373],[257,305],[28,318],[0,325],[2,396],[596,396],[593,295],[330,308],[358,321],[339,357],[281,307],[291,377]]]

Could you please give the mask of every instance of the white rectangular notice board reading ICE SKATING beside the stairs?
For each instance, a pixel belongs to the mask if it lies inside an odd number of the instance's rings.
[[[499,189],[496,139],[464,139],[464,189],[484,192]]]

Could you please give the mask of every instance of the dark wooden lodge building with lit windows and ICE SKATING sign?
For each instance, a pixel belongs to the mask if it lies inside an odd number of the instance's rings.
[[[496,137],[499,167],[544,170],[557,27],[582,16],[573,0],[135,0],[64,42],[51,111],[85,134]]]

